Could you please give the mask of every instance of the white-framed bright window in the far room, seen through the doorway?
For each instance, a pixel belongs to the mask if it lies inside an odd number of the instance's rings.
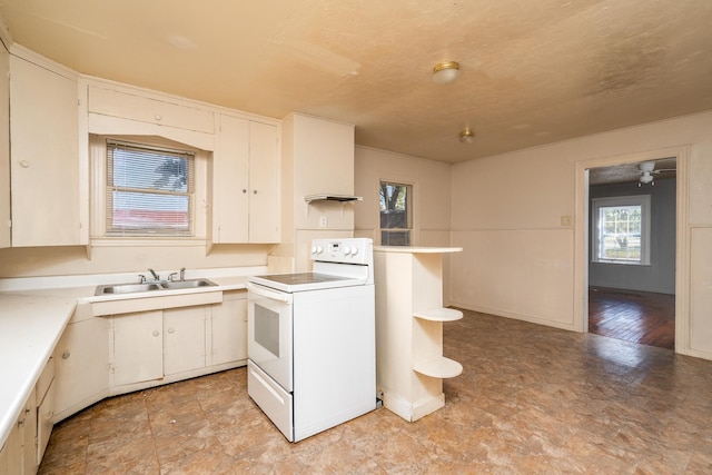
[[[650,195],[593,200],[593,261],[650,264]]]

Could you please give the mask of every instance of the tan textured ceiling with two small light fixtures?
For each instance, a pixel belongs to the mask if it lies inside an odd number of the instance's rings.
[[[442,161],[712,109],[710,0],[0,0],[0,14],[82,73],[336,119],[359,145]],[[461,76],[438,86],[445,60]]]

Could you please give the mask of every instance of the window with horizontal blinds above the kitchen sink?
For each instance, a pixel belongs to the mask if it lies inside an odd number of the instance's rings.
[[[192,236],[195,155],[107,141],[107,236]]]

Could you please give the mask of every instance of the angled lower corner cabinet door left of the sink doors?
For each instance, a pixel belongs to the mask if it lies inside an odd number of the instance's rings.
[[[53,354],[55,423],[96,403],[109,387],[109,321],[67,325]]]

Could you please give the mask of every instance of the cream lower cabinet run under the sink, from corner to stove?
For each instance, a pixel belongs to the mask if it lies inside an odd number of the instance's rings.
[[[51,397],[57,424],[107,396],[247,363],[245,290],[224,291],[219,304],[101,317],[93,317],[90,307],[78,306],[55,349],[53,385],[46,385],[47,396],[37,400],[40,420],[51,412]],[[40,426],[43,434],[51,429]],[[0,475],[2,464],[0,457]]]

